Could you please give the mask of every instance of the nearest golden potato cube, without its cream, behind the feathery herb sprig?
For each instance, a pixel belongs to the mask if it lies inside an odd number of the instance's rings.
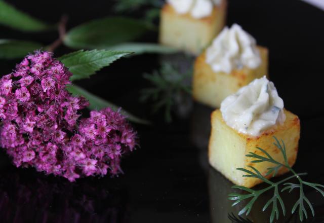
[[[209,163],[216,170],[221,172],[233,183],[248,188],[262,182],[258,178],[242,177],[245,173],[236,168],[250,169],[253,166],[266,175],[269,167],[275,166],[273,163],[262,162],[252,163],[254,158],[246,157],[250,152],[265,156],[256,147],[263,148],[274,160],[284,163],[284,157],[280,150],[273,144],[274,138],[284,140],[287,151],[287,159],[290,166],[295,164],[298,152],[298,141],[300,135],[299,118],[284,110],[286,121],[283,125],[275,125],[264,131],[260,136],[253,137],[238,133],[229,127],[222,118],[220,110],[212,113],[212,132],[209,141]],[[277,175],[288,172],[287,168],[280,168]],[[266,176],[270,178],[272,175]]]

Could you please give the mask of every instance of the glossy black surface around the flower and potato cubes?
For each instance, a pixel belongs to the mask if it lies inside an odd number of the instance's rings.
[[[112,1],[8,2],[49,23],[67,14],[68,28],[113,15]],[[285,107],[301,119],[296,171],[308,172],[308,181],[324,184],[324,12],[301,1],[229,0],[227,24],[234,22],[269,48],[270,79]],[[48,45],[58,34],[21,33],[1,26],[0,38]],[[157,33],[144,38],[155,42]],[[60,47],[55,55],[69,51]],[[212,109],[195,103],[189,117],[175,116],[172,124],[166,124],[162,113],[152,115],[150,104],[138,100],[140,89],[149,86],[142,73],[157,68],[160,60],[157,55],[121,59],[78,82],[153,121],[151,126],[134,125],[141,147],[123,161],[125,174],[69,183],[34,169],[17,169],[2,151],[0,222],[230,222],[227,214],[238,212],[226,198],[231,183],[209,167],[206,156]],[[1,60],[1,75],[11,72],[17,62]],[[316,212],[308,222],[324,222],[324,198],[312,190],[306,195]],[[271,194],[264,199],[267,196]],[[285,195],[288,206],[297,196]],[[254,222],[267,222],[268,216],[259,210],[263,205],[256,203],[248,216]],[[288,211],[278,222],[298,221]]]

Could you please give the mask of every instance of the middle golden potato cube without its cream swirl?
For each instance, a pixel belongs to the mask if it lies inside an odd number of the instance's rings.
[[[256,69],[243,67],[231,73],[215,72],[206,63],[206,52],[198,56],[193,71],[193,98],[203,104],[219,108],[222,101],[254,79],[268,77],[268,49],[258,46],[261,64]]]

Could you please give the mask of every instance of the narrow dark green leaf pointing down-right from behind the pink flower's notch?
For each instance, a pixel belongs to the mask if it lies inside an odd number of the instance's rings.
[[[110,103],[110,102],[104,100],[103,98],[100,98],[100,97],[98,97],[98,96],[96,96],[96,95],[88,92],[87,90],[85,90],[81,87],[78,87],[76,85],[69,85],[67,87],[67,89],[73,95],[82,95],[85,98],[87,98],[90,102],[90,106],[89,106],[90,109],[98,109],[99,110],[99,109],[105,108],[105,107],[110,107],[113,110],[119,109],[119,107],[117,105]],[[127,119],[130,120],[131,122],[145,124],[145,125],[150,124],[148,121],[137,118],[136,116],[126,112],[126,110],[124,110],[124,109],[121,109],[120,112],[121,112],[121,114],[125,115],[127,117]]]

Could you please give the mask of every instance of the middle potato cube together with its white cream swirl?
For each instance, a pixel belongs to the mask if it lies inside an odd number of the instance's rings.
[[[225,27],[194,63],[193,97],[219,108],[239,88],[268,76],[268,50],[239,25]]]

